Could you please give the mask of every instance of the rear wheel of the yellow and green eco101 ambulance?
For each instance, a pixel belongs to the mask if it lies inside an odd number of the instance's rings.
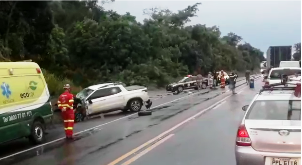
[[[33,144],[41,144],[45,141],[44,125],[40,121],[34,121],[31,126],[31,135],[28,137]]]

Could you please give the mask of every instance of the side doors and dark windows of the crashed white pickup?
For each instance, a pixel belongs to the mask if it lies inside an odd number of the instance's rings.
[[[88,101],[89,99],[87,99],[89,114],[122,106],[124,97],[123,95],[120,95],[120,93],[121,90],[119,87],[108,87],[95,90],[91,96],[89,96],[92,104],[90,104]]]

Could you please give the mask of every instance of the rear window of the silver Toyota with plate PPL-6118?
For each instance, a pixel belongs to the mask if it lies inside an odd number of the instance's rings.
[[[255,101],[246,118],[250,120],[301,120],[301,101]]]

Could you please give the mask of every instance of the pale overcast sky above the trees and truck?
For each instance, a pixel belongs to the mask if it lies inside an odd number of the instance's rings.
[[[265,53],[269,46],[294,45],[301,42],[301,1],[115,1],[106,10],[119,14],[130,12],[143,22],[145,8],[182,10],[201,2],[198,17],[188,25],[219,26],[221,35],[233,32]]]

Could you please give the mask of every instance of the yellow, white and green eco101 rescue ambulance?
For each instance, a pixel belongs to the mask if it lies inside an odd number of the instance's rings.
[[[45,140],[53,116],[41,68],[34,62],[0,62],[0,143]]]

